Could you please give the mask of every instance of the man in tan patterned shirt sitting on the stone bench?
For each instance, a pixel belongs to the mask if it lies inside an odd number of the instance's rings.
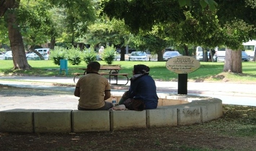
[[[76,83],[74,95],[80,97],[78,110],[109,110],[113,107],[106,102],[111,97],[111,87],[107,78],[98,74],[100,63],[92,61],[87,65],[86,73]]]

